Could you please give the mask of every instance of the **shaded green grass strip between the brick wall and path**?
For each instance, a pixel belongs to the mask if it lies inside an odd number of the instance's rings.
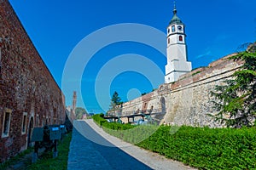
[[[72,133],[67,133],[67,136],[58,144],[58,156],[53,158],[52,152],[45,152],[39,157],[36,163],[28,166],[28,170],[66,170],[69,144],[72,139]]]

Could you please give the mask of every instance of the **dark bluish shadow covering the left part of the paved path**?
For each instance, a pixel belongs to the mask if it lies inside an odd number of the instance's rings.
[[[86,122],[75,121],[74,127],[78,129],[73,128],[67,169],[151,169],[123,150],[114,147]],[[89,139],[101,142],[96,144]]]

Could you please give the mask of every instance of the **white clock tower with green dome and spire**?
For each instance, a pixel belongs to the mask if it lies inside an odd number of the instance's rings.
[[[166,83],[176,82],[178,77],[192,70],[191,62],[187,60],[185,37],[185,26],[177,17],[177,9],[174,5],[173,17],[167,27]]]

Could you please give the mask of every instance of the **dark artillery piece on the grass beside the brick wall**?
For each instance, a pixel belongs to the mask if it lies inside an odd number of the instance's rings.
[[[45,148],[45,151],[54,148],[53,157],[58,156],[57,140],[60,140],[62,135],[66,133],[65,125],[45,125],[44,127],[34,127],[32,133],[32,142],[35,142],[32,162],[38,159],[38,149]]]

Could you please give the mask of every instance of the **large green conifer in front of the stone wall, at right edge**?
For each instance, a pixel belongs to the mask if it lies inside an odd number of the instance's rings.
[[[212,92],[219,111],[213,117],[227,127],[253,126],[256,117],[256,42],[230,59],[242,60],[243,65],[231,79],[224,81],[225,85],[216,86]]]

